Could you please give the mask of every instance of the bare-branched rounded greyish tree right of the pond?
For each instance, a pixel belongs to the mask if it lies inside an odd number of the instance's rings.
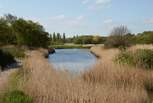
[[[115,27],[111,35],[105,42],[105,47],[127,47],[130,45],[129,40],[127,39],[126,35],[129,34],[130,31],[126,26],[119,26]]]

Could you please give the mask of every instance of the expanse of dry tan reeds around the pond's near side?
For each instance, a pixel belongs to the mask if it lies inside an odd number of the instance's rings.
[[[78,77],[56,71],[42,52],[32,51],[24,66],[18,88],[36,103],[150,103],[148,88],[153,86],[153,72],[123,67],[111,61],[117,49],[91,49],[102,60]],[[42,51],[42,50],[41,50]]]

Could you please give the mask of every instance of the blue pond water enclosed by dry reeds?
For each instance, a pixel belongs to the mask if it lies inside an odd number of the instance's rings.
[[[49,55],[55,69],[82,72],[96,63],[96,57],[88,49],[56,49]]]

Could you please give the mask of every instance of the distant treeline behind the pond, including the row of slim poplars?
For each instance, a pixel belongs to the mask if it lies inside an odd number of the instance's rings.
[[[74,43],[74,44],[101,44],[104,43],[106,37],[93,36],[93,35],[81,35],[66,37],[66,34],[52,33],[50,34],[51,45],[61,45],[64,43]]]

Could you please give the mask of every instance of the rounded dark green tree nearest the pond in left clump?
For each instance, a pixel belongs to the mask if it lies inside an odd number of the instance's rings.
[[[49,41],[48,33],[39,23],[18,19],[13,23],[18,45],[30,47],[46,47]]]

